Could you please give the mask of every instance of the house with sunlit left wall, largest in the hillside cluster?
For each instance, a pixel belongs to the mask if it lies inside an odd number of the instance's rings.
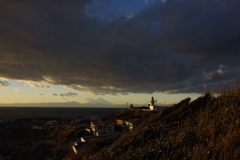
[[[115,132],[115,126],[110,123],[91,122],[91,128],[95,136],[113,134]]]

